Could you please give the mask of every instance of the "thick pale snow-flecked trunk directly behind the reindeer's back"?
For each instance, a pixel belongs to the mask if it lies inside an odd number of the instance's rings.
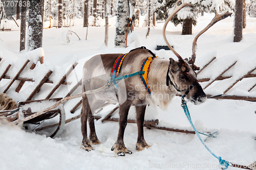
[[[129,1],[131,4],[130,11],[134,11],[135,7],[135,0]],[[115,37],[115,47],[125,47],[125,41],[126,41],[126,32],[127,32],[127,26],[130,22],[129,17],[129,6],[127,0],[118,0],[117,1],[117,19],[116,19],[116,37]],[[132,21],[134,26],[134,13],[132,15]],[[129,27],[130,28],[130,27]],[[130,29],[129,29],[130,30]],[[131,30],[130,30],[131,31]],[[130,32],[128,31],[128,32]]]

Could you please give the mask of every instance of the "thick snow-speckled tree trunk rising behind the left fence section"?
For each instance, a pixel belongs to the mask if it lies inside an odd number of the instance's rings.
[[[28,49],[35,50],[42,46],[42,15],[44,0],[31,0],[28,20]]]

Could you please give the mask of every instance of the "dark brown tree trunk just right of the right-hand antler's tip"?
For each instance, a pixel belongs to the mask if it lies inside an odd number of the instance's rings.
[[[234,42],[240,42],[243,38],[243,4],[244,0],[236,0],[234,13]]]

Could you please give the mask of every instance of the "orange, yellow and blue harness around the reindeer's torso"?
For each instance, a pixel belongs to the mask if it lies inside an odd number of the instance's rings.
[[[140,48],[146,49],[145,47],[140,47]],[[148,92],[148,94],[151,94],[151,89],[150,89],[150,86],[148,86],[147,77],[148,77],[148,72],[150,71],[150,65],[151,65],[153,59],[156,58],[156,56],[150,50],[147,50],[147,51],[150,52],[153,55],[153,57],[147,57],[144,59],[142,65],[141,65],[140,71],[135,72],[134,74],[131,74],[131,75],[125,75],[121,78],[117,78],[117,76],[120,72],[120,68],[122,66],[123,59],[128,53],[122,54],[119,57],[117,57],[114,65],[111,69],[111,74],[110,74],[110,77],[111,77],[110,82],[113,82],[117,89],[118,89],[117,84],[116,84],[117,80],[125,79],[127,77],[132,77],[135,75],[140,75],[140,80],[141,80],[142,84],[144,85],[146,91]]]

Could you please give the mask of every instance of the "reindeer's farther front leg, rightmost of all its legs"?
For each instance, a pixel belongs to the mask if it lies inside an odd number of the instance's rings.
[[[136,108],[136,122],[138,126],[138,139],[136,143],[136,150],[141,151],[145,148],[150,148],[144,139],[144,132],[143,132],[143,123],[144,123],[144,116],[145,116],[145,106],[135,106]]]

